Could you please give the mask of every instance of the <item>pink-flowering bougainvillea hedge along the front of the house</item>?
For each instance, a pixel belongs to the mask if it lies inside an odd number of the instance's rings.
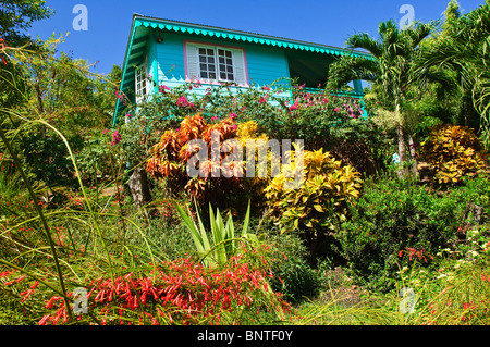
[[[308,92],[304,86],[291,87],[280,82],[238,89],[231,84],[205,88],[199,83],[172,89],[164,85],[157,87],[158,92],[150,101],[138,104],[137,116],[121,125],[120,146],[130,162],[139,163],[148,158],[151,147],[166,131],[176,129],[184,117],[196,113],[207,123],[224,119],[232,119],[236,124],[254,121],[258,133],[278,140],[303,139],[309,150],[329,151],[343,141],[371,144],[377,139],[376,128],[365,117],[359,99],[321,89]],[[284,95],[293,98],[284,98]],[[135,111],[130,108],[125,113],[135,114]],[[379,146],[370,148],[376,150]]]

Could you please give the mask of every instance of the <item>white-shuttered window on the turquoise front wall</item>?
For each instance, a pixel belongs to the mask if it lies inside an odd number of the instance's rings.
[[[187,42],[186,51],[187,78],[210,83],[247,84],[243,49]]]

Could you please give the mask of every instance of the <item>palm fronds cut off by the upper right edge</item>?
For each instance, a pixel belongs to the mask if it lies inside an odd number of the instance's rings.
[[[452,3],[455,1],[452,1]],[[451,4],[451,3],[450,3]],[[453,4],[454,5],[454,4]],[[480,113],[480,129],[490,142],[490,0],[468,14],[453,18],[446,34],[424,52],[421,69],[454,73],[461,90],[469,90]]]

